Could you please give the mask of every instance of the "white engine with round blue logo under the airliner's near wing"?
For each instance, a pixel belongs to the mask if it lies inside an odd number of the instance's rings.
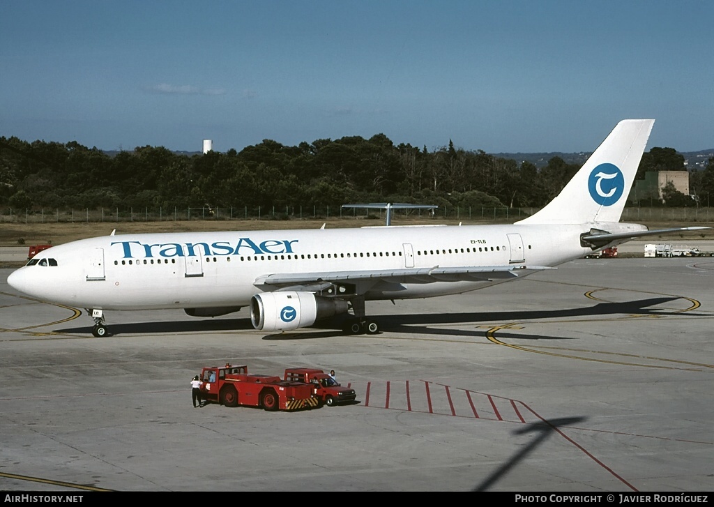
[[[251,298],[251,322],[258,331],[289,331],[346,313],[347,301],[311,292],[266,292]]]

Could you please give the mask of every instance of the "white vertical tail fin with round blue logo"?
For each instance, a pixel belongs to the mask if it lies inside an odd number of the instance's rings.
[[[618,222],[654,120],[623,120],[560,194],[517,224]]]

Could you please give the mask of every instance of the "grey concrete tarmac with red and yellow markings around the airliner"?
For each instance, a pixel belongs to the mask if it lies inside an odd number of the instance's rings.
[[[269,336],[245,309],[107,312],[0,270],[2,491],[711,491],[714,258],[580,259],[368,302],[371,336]],[[335,369],[350,406],[193,408],[203,366]]]

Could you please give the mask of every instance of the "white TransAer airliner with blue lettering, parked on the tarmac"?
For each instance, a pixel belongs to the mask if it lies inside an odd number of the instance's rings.
[[[512,225],[381,226],[103,236],[53,246],[8,278],[43,301],[104,311],[249,306],[253,326],[287,331],[348,313],[346,333],[378,333],[365,301],[473,291],[662,231],[620,224],[654,120],[623,120],[563,191]]]

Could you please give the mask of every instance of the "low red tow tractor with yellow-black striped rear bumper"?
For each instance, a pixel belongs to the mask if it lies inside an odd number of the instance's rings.
[[[267,411],[297,410],[319,405],[312,386],[278,376],[248,375],[248,366],[211,366],[201,371],[201,396],[225,406],[256,406]]]

